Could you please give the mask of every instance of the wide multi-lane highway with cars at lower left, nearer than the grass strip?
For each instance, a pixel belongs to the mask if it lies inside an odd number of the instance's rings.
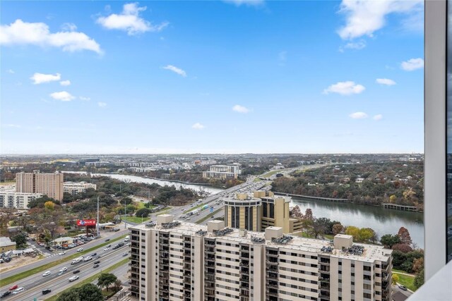
[[[116,245],[116,243],[113,243],[113,245]],[[33,300],[33,298],[35,297],[37,298],[37,300],[45,300],[49,297],[52,297],[52,295],[66,290],[66,288],[70,288],[72,285],[76,285],[78,282],[83,281],[83,279],[101,272],[102,269],[106,269],[107,267],[116,264],[117,262],[121,261],[121,259],[126,258],[123,256],[124,252],[129,252],[129,247],[127,247],[126,245],[119,247],[117,250],[112,250],[112,248],[110,248],[108,251],[104,251],[104,248],[105,247],[100,247],[99,249],[93,251],[93,253],[97,252],[97,256],[100,256],[100,259],[95,259],[95,257],[93,257],[93,259],[88,262],[79,262],[78,264],[73,265],[71,265],[71,261],[68,261],[64,264],[59,264],[50,269],[49,271],[51,271],[52,274],[50,274],[49,276],[42,276],[43,272],[40,272],[38,274],[34,274],[32,276],[29,276],[28,278],[20,280],[18,281],[18,283],[12,283],[11,285],[17,284],[19,287],[25,288],[25,290],[21,293],[18,293],[17,295],[11,294],[4,300]],[[85,257],[90,254],[85,254]],[[129,257],[130,254],[128,254],[127,256]],[[93,262],[97,260],[100,261],[100,266],[93,268]],[[66,266],[68,269],[64,272],[64,274],[59,276],[58,272],[64,266]],[[121,269],[124,269],[124,267],[121,266]],[[69,282],[69,278],[71,276],[74,276],[72,271],[75,270],[80,270],[78,274],[75,274],[79,278],[76,281]],[[119,278],[121,278],[122,280],[122,278],[124,277],[121,277],[120,275]],[[8,287],[10,287],[11,285],[8,285]],[[8,287],[1,288],[1,291],[8,290]],[[42,295],[42,290],[46,288],[50,288],[52,290],[52,293]]]

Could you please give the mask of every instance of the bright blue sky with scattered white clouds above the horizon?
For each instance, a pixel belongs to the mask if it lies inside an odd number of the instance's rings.
[[[423,152],[422,1],[4,1],[1,153]]]

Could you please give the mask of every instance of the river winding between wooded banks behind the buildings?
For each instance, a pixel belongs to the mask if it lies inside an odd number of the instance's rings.
[[[66,173],[66,171],[64,172]],[[220,188],[213,188],[211,186],[183,184],[140,176],[119,175],[116,173],[92,173],[92,175],[107,176],[124,182],[157,183],[159,185],[174,185],[176,188],[182,186],[183,188],[191,188],[193,190],[203,189],[211,194],[222,191]],[[372,228],[379,235],[379,238],[385,234],[396,234],[400,227],[405,227],[410,232],[412,241],[417,244],[417,247],[424,247],[424,215],[420,212],[383,209],[383,207],[350,203],[333,203],[298,197],[292,197],[292,204],[297,204],[303,212],[307,208],[311,208],[314,216],[327,217],[332,221],[340,221],[344,226]]]

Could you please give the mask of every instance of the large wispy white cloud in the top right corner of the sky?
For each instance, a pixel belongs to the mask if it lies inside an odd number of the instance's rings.
[[[372,37],[376,30],[385,25],[386,15],[417,13],[422,5],[422,0],[343,0],[340,13],[346,15],[346,25],[338,30],[338,34],[343,39],[354,39],[363,35]]]

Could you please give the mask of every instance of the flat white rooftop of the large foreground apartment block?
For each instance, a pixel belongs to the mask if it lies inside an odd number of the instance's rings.
[[[271,247],[279,247],[281,249],[289,249],[289,250],[299,250],[304,252],[313,252],[317,254],[328,254],[331,257],[338,257],[343,259],[352,259],[362,262],[374,262],[375,260],[381,262],[387,262],[389,255],[392,253],[392,250],[384,249],[383,246],[380,245],[366,245],[359,244],[364,247],[364,252],[361,255],[353,254],[349,252],[343,252],[342,250],[333,249],[333,244],[329,240],[316,240],[311,238],[301,238],[297,236],[292,236],[292,239],[285,240],[284,244],[278,242],[272,242],[270,240],[265,240],[265,233],[263,232],[252,232],[247,231],[244,236],[241,236],[239,233],[239,229],[232,229],[231,232],[225,233],[222,236],[217,236],[213,232],[207,232],[206,235],[200,235],[199,233],[203,233],[203,231],[207,231],[207,226],[198,225],[195,223],[186,223],[181,222],[178,226],[174,226],[173,228],[164,229],[161,226],[153,226],[147,227],[145,225],[138,225],[132,227],[131,229],[140,229],[141,231],[167,231],[171,233],[179,233],[180,235],[193,235],[193,236],[205,236],[207,238],[216,238],[218,240],[228,240],[232,242],[239,242],[249,245],[268,245]],[[200,232],[198,232],[200,231]],[[198,233],[197,233],[198,232]],[[345,238],[350,235],[342,235]],[[251,238],[254,238],[251,240]],[[265,240],[265,242],[261,243],[256,241]],[[326,248],[330,247],[332,252],[324,252]]]

